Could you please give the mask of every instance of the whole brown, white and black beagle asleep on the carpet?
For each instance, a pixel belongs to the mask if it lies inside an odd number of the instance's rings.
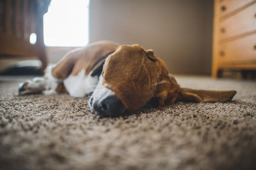
[[[153,50],[140,45],[99,41],[67,53],[45,69],[44,78],[20,83],[19,94],[68,93],[90,96],[91,110],[100,117],[117,117],[125,110],[175,101],[226,102],[236,91],[180,88]]]

